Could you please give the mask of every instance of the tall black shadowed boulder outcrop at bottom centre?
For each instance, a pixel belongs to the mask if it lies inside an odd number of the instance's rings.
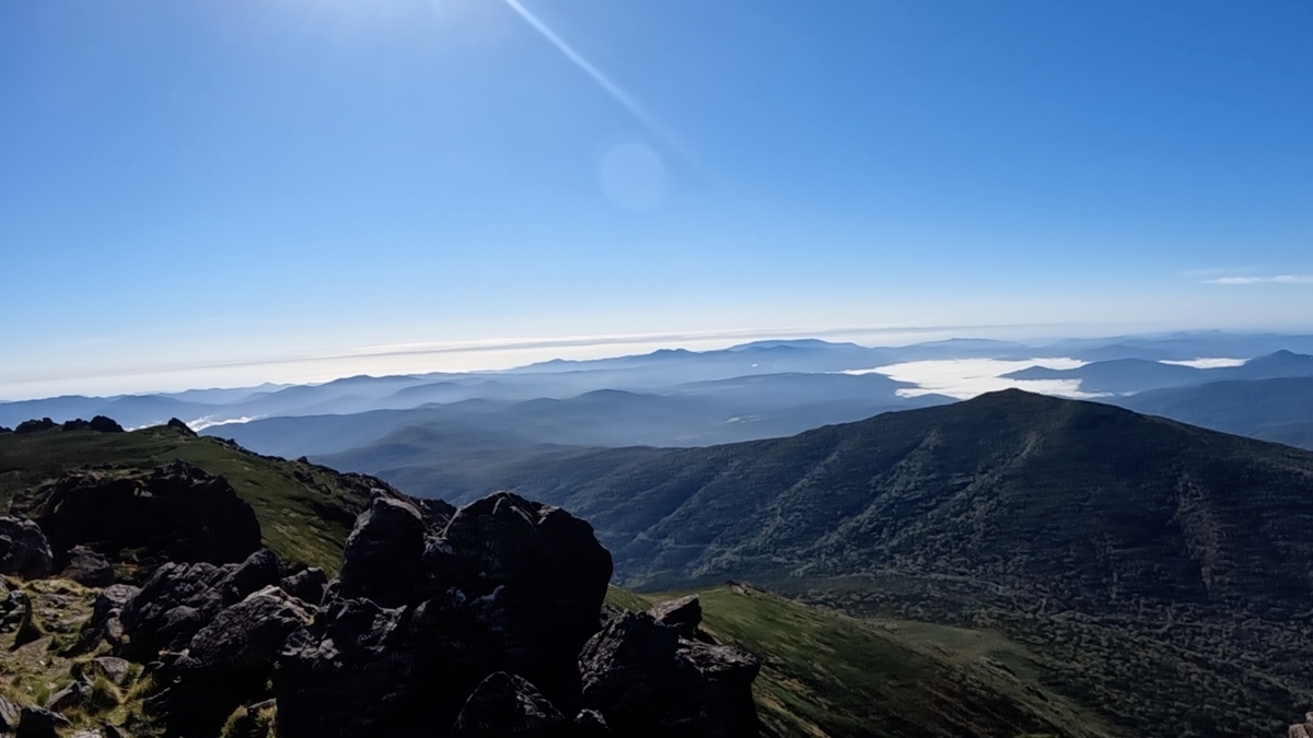
[[[395,499],[360,517],[343,579],[278,655],[280,735],[758,735],[750,655],[646,615],[597,633],[611,555],[587,523],[506,492],[423,523]],[[381,552],[400,558],[385,571]]]

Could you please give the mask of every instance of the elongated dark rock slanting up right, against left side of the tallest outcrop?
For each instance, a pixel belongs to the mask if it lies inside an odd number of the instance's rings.
[[[158,670],[165,691],[152,708],[171,733],[213,734],[235,708],[263,695],[274,657],[311,616],[305,603],[274,586],[225,608]]]

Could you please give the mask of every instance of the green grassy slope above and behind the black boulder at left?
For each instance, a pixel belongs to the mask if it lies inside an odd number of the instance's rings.
[[[85,465],[150,469],[175,460],[222,474],[255,508],[267,546],[330,573],[337,571],[343,542],[368,502],[330,469],[155,427],[129,433],[54,429],[0,435],[0,508],[14,492]]]

